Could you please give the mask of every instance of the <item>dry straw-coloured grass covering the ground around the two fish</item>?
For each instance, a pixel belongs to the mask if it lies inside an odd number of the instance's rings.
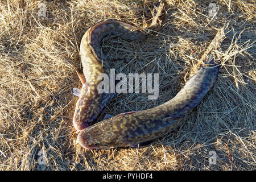
[[[116,71],[159,73],[159,99],[118,94],[105,114],[148,109],[170,100],[225,26],[217,51],[222,67],[213,89],[177,131],[145,148],[84,150],[72,126],[84,32],[114,18],[142,26],[144,1],[0,2],[1,170],[255,170],[255,5],[253,0],[169,0],[159,32],[143,40],[103,44]],[[111,130],[111,129],[110,129]],[[209,151],[217,164],[209,165]],[[46,164],[39,164],[40,153]],[[41,156],[42,157],[42,156]]]

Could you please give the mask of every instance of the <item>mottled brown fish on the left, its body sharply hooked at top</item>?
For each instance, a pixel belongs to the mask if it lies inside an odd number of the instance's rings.
[[[108,19],[90,27],[82,36],[80,44],[82,71],[77,69],[82,88],[73,89],[73,94],[79,97],[73,115],[73,126],[77,131],[92,125],[114,96],[113,93],[99,93],[97,88],[102,81],[98,79],[102,73],[110,77],[109,61],[102,55],[100,43],[103,39],[118,35],[124,39],[136,40],[142,38],[145,32],[133,24]]]

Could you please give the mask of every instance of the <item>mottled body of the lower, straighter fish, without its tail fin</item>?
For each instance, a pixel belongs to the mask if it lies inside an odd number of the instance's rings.
[[[119,114],[81,131],[81,146],[114,148],[137,146],[170,133],[181,125],[216,81],[220,66],[200,68],[170,101],[152,109]]]

